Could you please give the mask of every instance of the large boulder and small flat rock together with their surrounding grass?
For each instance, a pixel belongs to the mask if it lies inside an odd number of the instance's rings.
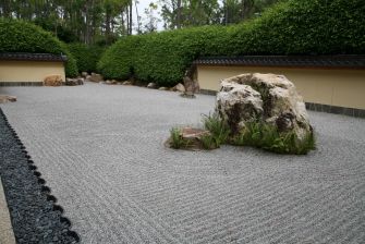
[[[303,98],[283,75],[255,73],[223,80],[215,112],[203,117],[203,123],[204,129],[172,129],[167,145],[195,150],[231,144],[296,155],[315,149]]]

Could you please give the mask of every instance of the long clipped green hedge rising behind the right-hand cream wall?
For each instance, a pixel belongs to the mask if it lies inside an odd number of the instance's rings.
[[[244,54],[363,54],[363,0],[289,0],[244,24],[131,36],[98,63],[107,78],[135,76],[173,86],[198,57]]]

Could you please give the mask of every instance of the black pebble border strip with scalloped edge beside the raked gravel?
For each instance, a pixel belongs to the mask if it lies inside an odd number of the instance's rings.
[[[20,244],[74,244],[80,235],[71,230],[63,208],[46,186],[26,148],[0,108],[0,175],[12,225]]]

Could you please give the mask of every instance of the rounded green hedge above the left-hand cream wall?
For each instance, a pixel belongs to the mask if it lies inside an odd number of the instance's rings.
[[[76,61],[65,44],[42,28],[23,21],[0,19],[0,52],[66,54],[66,76],[77,75]]]

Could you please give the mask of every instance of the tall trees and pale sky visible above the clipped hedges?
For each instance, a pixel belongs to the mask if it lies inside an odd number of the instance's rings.
[[[109,45],[156,32],[159,22],[166,29],[240,23],[278,1],[150,0],[141,10],[137,0],[2,0],[0,17],[33,22],[65,42]]]

